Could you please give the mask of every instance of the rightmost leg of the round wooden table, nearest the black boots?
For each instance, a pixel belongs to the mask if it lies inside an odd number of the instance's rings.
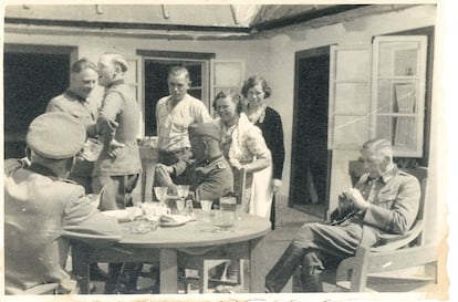
[[[250,241],[250,293],[266,290],[266,239]]]

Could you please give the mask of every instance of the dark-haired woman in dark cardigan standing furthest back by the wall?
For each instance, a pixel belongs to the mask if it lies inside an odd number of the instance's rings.
[[[275,198],[274,194],[280,190],[284,163],[283,126],[280,114],[264,104],[264,100],[272,94],[268,82],[254,75],[244,81],[241,90],[242,95],[248,100],[244,112],[249,121],[262,131],[266,144],[272,154],[271,198],[272,207],[270,221],[272,230],[275,229]],[[256,174],[253,186],[263,186],[266,175]]]

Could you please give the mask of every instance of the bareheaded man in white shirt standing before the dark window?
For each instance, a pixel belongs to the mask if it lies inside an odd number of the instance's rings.
[[[189,72],[186,67],[174,66],[168,72],[168,96],[156,106],[159,163],[171,166],[191,156],[188,127],[195,123],[207,123],[212,118],[204,103],[188,94]],[[179,179],[174,179],[180,184]]]

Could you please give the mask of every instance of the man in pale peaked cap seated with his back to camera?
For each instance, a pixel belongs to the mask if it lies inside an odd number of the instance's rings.
[[[65,179],[86,138],[84,126],[66,113],[38,116],[27,134],[28,159],[4,162],[6,293],[43,283],[74,290],[63,269],[69,239],[106,246],[122,239],[113,217],[102,215],[84,188]]]

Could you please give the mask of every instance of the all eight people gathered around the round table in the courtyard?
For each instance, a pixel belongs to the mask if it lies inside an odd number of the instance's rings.
[[[55,282],[71,292],[74,281],[64,270],[69,239],[110,244],[122,239],[118,222],[101,211],[132,204],[142,173],[137,147],[139,107],[124,83],[126,60],[103,54],[97,65],[86,59],[71,70],[67,91],[50,101],[46,113],[32,121],[25,157],[4,164],[6,292],[17,293]],[[96,83],[103,100],[92,100]],[[284,160],[280,115],[264,100],[271,88],[261,76],[248,79],[241,93],[225,90],[214,101],[217,118],[187,91],[189,73],[173,67],[169,96],[156,106],[159,163],[155,183],[174,190],[188,184],[197,200],[218,200],[233,192],[237,171],[247,171],[242,209],[269,218],[274,228],[274,192],[281,187]],[[84,160],[87,137],[103,143],[95,163]],[[332,261],[353,256],[358,246],[376,246],[384,233],[405,233],[419,205],[417,179],[396,168],[386,139],[362,148],[367,169],[355,188],[342,192],[333,223],[305,223],[266,280],[267,292],[280,292],[296,267],[304,291],[322,291],[321,273]],[[237,181],[236,181],[237,183]],[[98,209],[86,194],[103,190]],[[344,219],[342,219],[344,218]],[[138,265],[125,265],[135,271]],[[91,278],[103,279],[114,292],[121,263],[108,275],[96,264]],[[135,279],[135,278],[134,278]],[[135,282],[134,282],[135,290]]]

